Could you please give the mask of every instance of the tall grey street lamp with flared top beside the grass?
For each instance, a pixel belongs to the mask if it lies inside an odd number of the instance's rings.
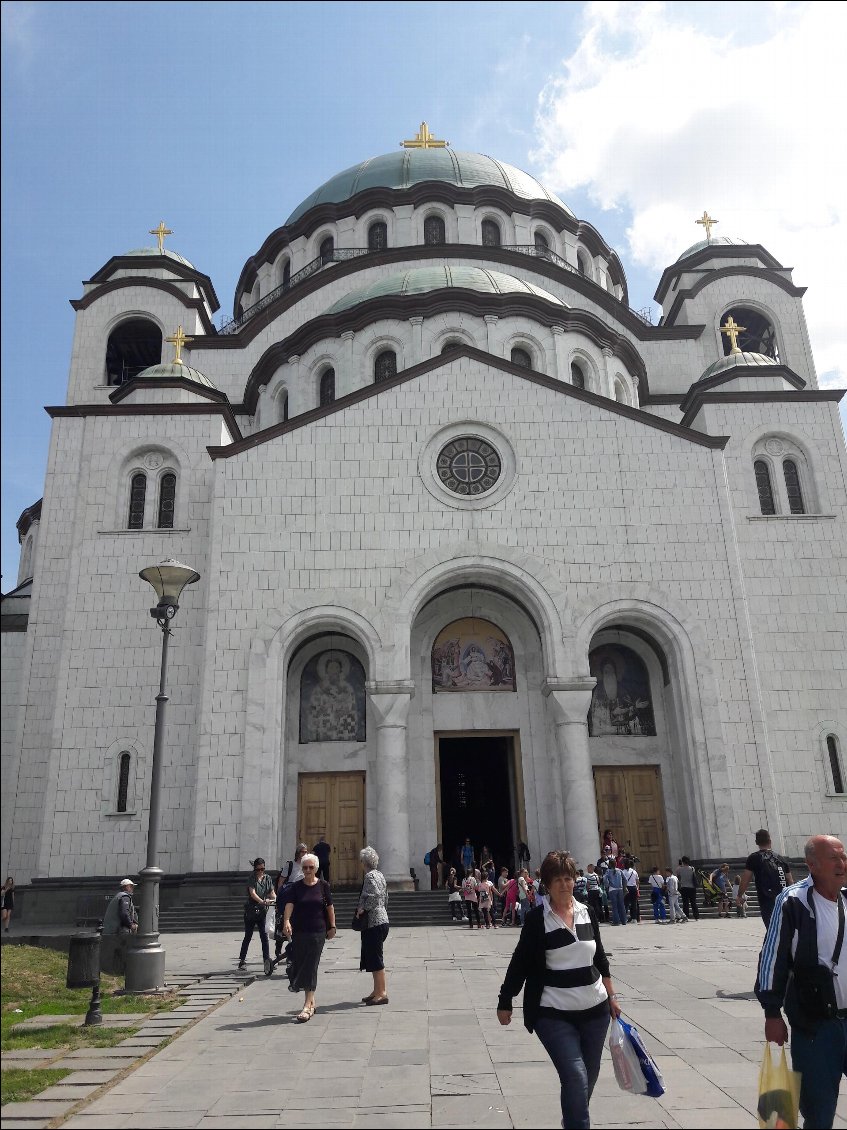
[[[159,944],[159,880],[163,871],[158,864],[159,809],[161,802],[161,751],[165,745],[165,690],[167,675],[167,644],[171,620],[180,607],[180,594],[186,584],[194,584],[200,574],[180,562],[166,560],[142,568],[138,574],[156,590],[158,603],[150,616],[161,628],[161,673],[156,695],[156,729],[152,740],[152,772],[150,773],[150,819],[147,828],[147,867],[141,871],[138,933],[126,951],[126,991],[148,992],[165,983],[165,950]]]

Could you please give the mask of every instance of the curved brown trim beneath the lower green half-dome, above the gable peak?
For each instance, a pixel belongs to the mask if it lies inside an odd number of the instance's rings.
[[[446,287],[428,294],[386,295],[363,302],[339,314],[321,314],[306,322],[281,341],[274,341],[256,362],[244,390],[245,409],[255,411],[259,386],[267,384],[276,370],[295,354],[303,354],[311,346],[325,338],[337,338],[347,330],[360,332],[372,322],[384,318],[407,319],[418,314],[435,314],[461,311],[462,313],[497,313],[500,318],[531,316],[545,325],[562,325],[566,330],[578,330],[599,347],[608,347],[615,357],[639,380],[649,392],[647,366],[628,338],[612,330],[594,314],[570,306],[557,306],[534,294],[480,294],[462,287]],[[486,356],[489,356],[486,354]]]

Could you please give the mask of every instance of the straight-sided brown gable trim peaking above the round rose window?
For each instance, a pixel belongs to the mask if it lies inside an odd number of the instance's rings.
[[[499,368],[501,372],[509,373],[512,376],[518,376],[532,384],[539,384],[544,389],[550,389],[553,392],[558,392],[560,395],[575,397],[577,400],[583,400],[586,403],[604,408],[606,411],[613,412],[618,416],[625,416],[627,419],[638,420],[639,424],[644,424],[647,427],[656,428],[658,432],[666,432],[670,435],[679,436],[682,440],[688,440],[690,443],[699,444],[702,447],[721,449],[728,442],[728,436],[705,435],[702,432],[695,432],[690,428],[681,427],[679,424],[672,424],[670,420],[662,419],[661,417],[650,416],[649,412],[641,411],[640,408],[630,408],[629,405],[618,403],[617,400],[609,400],[606,397],[599,397],[596,393],[586,392],[584,389],[575,389],[571,384],[567,384],[564,381],[556,381],[553,377],[545,376],[543,373],[534,372],[534,370],[524,368],[522,365],[513,365],[512,362],[504,360],[500,357],[492,357],[490,354],[482,353],[481,349],[473,349],[471,346],[460,346],[459,348],[451,350],[449,354],[439,354],[438,357],[433,357],[429,360],[421,362],[419,365],[412,365],[410,368],[403,370],[402,373],[398,373],[398,375],[392,377],[390,381],[381,381],[378,384],[367,384],[364,389],[357,389],[355,392],[349,392],[346,397],[340,397],[331,405],[325,405],[321,408],[313,408],[312,411],[303,412],[302,416],[297,416],[285,424],[274,424],[272,427],[263,428],[261,432],[254,432],[253,435],[245,436],[243,440],[238,440],[237,442],[227,444],[226,446],[209,446],[207,447],[207,451],[212,459],[229,459],[233,455],[241,454],[242,452],[251,451],[253,447],[268,443],[270,440],[276,440],[281,435],[288,435],[290,432],[297,432],[299,428],[306,427],[315,420],[323,419],[325,416],[332,416],[334,412],[343,411],[343,409],[349,408],[352,405],[363,403],[363,401],[369,400],[372,397],[378,397],[390,389],[396,389],[401,384],[407,384],[410,381],[417,380],[419,376],[425,376],[427,373],[431,373],[444,365],[452,364],[452,362],[454,362],[457,357],[469,357],[471,360],[479,362],[482,365],[488,365],[491,368]]]

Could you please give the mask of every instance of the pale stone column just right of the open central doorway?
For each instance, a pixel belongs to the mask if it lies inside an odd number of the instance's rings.
[[[579,867],[593,863],[600,855],[597,801],[588,753],[588,706],[596,681],[593,676],[583,676],[545,679],[543,686],[556,723],[565,846]]]

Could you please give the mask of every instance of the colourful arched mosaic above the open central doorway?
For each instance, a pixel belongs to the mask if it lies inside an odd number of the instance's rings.
[[[454,620],[433,644],[433,690],[515,690],[515,653],[490,620]]]

